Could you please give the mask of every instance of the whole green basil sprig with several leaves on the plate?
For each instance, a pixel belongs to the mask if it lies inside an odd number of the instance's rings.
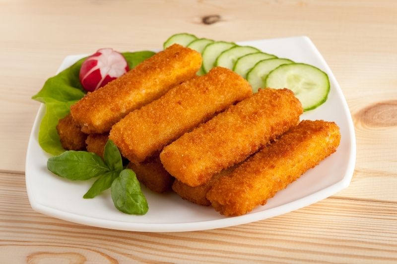
[[[111,188],[113,203],[119,211],[145,214],[148,210],[135,173],[131,169],[123,169],[121,154],[111,140],[105,145],[103,159],[91,152],[66,151],[49,158],[47,168],[69,180],[88,180],[99,176],[84,194],[85,199],[94,198]]]

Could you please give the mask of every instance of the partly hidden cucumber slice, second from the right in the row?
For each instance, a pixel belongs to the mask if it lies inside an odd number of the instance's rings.
[[[265,79],[270,71],[274,70],[281,64],[293,63],[287,58],[269,58],[261,60],[247,73],[247,81],[252,86],[254,93],[258,92],[259,88],[265,88]]]

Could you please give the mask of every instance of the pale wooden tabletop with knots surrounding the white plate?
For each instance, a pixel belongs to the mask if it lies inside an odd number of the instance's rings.
[[[396,15],[395,0],[0,1],[0,263],[397,262]],[[109,230],[33,211],[24,159],[39,103],[30,97],[68,54],[156,49],[179,32],[309,36],[354,119],[350,186],[298,211],[199,232]]]

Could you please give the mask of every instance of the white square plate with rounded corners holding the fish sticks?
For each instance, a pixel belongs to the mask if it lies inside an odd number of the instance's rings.
[[[331,157],[309,170],[285,190],[269,199],[265,206],[236,217],[225,217],[211,207],[184,201],[174,193],[157,194],[142,187],[149,211],[145,215],[128,215],[118,211],[110,192],[95,199],[83,199],[93,180],[75,182],[58,177],[47,170],[47,155],[38,144],[39,124],[44,115],[40,106],[29,139],[26,154],[26,188],[35,211],[80,224],[132,231],[177,232],[205,230],[244,224],[280,215],[316,203],[347,187],[353,175],[356,141],[353,122],[342,91],[330,67],[308,37],[257,40],[238,43],[249,45],[315,65],[328,73],[331,92],[327,102],[305,112],[301,119],[334,121],[340,127],[340,145]],[[67,56],[59,71],[73,64],[82,55]]]

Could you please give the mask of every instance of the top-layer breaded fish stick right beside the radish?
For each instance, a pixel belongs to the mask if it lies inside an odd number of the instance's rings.
[[[196,76],[201,61],[200,53],[174,44],[101,89],[88,93],[70,107],[71,115],[84,133],[109,132],[116,122],[132,110]]]

